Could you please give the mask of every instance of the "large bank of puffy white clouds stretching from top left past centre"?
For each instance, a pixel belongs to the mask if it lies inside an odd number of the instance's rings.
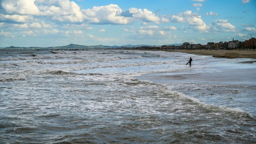
[[[27,22],[35,16],[58,22],[87,24],[133,24],[134,21],[169,22],[168,18],[159,17],[147,9],[122,10],[114,4],[80,9],[77,3],[70,0],[1,0],[1,7],[3,13],[0,20],[8,19],[15,22]]]

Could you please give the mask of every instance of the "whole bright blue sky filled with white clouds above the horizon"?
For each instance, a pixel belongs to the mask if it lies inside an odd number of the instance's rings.
[[[256,37],[256,0],[0,0],[0,47],[168,45]]]

